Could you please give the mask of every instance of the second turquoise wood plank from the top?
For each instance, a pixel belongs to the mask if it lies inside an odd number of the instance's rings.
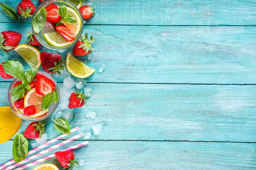
[[[22,33],[26,43],[30,24],[0,23],[0,31],[6,30]],[[88,65],[106,65],[90,82],[255,84],[256,27],[86,26],[85,31],[98,37]],[[65,58],[71,51],[59,54]],[[0,62],[17,58],[15,51],[1,53]]]

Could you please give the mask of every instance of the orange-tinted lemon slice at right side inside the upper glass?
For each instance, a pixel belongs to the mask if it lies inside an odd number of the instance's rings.
[[[74,0],[76,1],[76,0]],[[82,1],[80,1],[82,2]],[[73,10],[72,8],[67,7],[67,14],[71,15],[72,17],[76,18],[76,23],[68,23],[66,21],[64,21],[63,18],[61,18],[61,23],[64,23],[64,25],[70,29],[70,31],[72,31],[74,34],[78,34],[80,29],[81,29],[81,20],[79,15],[77,14],[77,12],[75,10]]]

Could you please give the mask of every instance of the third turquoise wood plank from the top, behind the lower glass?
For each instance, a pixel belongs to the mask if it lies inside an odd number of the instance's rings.
[[[8,105],[8,86],[0,83],[0,105]],[[255,85],[88,86],[93,94],[75,110],[72,124],[91,133],[92,125],[101,124],[102,134],[91,139],[256,142]],[[96,119],[86,118],[88,111]],[[28,124],[23,121],[20,132]],[[47,132],[49,138],[59,134],[52,123]]]

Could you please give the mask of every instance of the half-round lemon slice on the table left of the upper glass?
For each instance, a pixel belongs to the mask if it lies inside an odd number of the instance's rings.
[[[17,51],[31,67],[35,67],[37,69],[40,67],[40,51],[37,48],[26,44],[21,44],[18,45],[14,50]]]

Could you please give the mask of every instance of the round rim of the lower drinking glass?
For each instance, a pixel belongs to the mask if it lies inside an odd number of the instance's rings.
[[[40,120],[44,120],[46,119],[49,115],[51,115],[52,113],[54,113],[56,111],[56,109],[58,108],[58,104],[60,102],[60,89],[58,87],[58,83],[55,81],[55,79],[53,79],[49,74],[47,73],[44,73],[44,72],[41,72],[41,71],[38,71],[38,74],[42,74],[44,75],[45,77],[51,79],[54,83],[55,83],[55,86],[56,86],[56,89],[58,91],[58,102],[56,104],[51,104],[51,105],[54,105],[54,108],[51,110],[51,112],[47,112],[46,115],[43,115],[43,116],[40,116],[40,117],[29,117],[29,116],[25,116],[19,109],[17,109],[15,107],[15,105],[13,104],[13,102],[11,101],[11,91],[10,89],[12,88],[13,89],[13,86],[14,84],[17,82],[17,80],[19,79],[13,79],[13,81],[11,82],[10,86],[9,86],[9,90],[8,90],[8,102],[9,102],[9,105],[12,109],[12,111],[17,115],[19,116],[21,119],[23,120],[26,120],[26,121],[40,121]],[[51,107],[51,106],[50,106]]]

